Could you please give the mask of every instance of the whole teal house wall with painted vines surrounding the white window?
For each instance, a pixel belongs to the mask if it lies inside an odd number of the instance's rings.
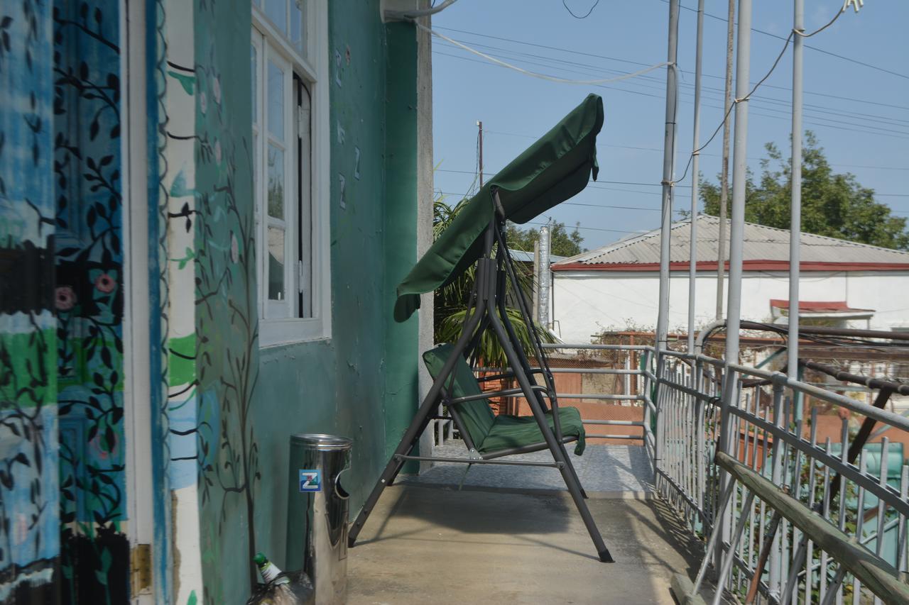
[[[290,434],[355,438],[355,509],[404,431],[395,411],[416,404],[415,324],[388,321],[392,282],[415,260],[415,34],[412,27],[395,34],[405,44],[393,68],[377,0],[328,6],[329,56],[338,58],[324,83],[331,91],[332,334],[260,349],[251,73],[248,45],[237,44],[249,38],[250,4],[158,3],[163,423],[178,603],[245,599],[257,581],[257,550],[283,564]],[[386,124],[401,134],[394,147]]]

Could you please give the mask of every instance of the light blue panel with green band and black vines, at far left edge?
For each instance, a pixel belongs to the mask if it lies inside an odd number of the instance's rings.
[[[59,599],[53,36],[0,5],[0,603]]]

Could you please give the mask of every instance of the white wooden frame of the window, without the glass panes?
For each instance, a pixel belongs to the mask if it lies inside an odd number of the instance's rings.
[[[293,1],[293,0],[292,0]],[[328,7],[326,0],[308,0],[304,5],[305,24],[305,56],[298,52],[294,45],[291,44],[288,37],[285,37],[272,24],[271,20],[265,15],[263,10],[257,5],[252,6],[252,44],[256,48],[257,71],[256,82],[256,104],[262,107],[265,103],[265,83],[267,82],[267,59],[271,54],[276,59],[280,59],[281,64],[289,65],[293,74],[300,77],[307,86],[311,97],[311,116],[309,126],[311,128],[311,146],[309,160],[311,169],[309,174],[304,174],[303,158],[296,154],[296,136],[298,111],[296,107],[296,82],[293,76],[285,79],[285,133],[293,132],[290,143],[286,144],[285,153],[285,183],[292,183],[292,195],[285,195],[285,204],[290,203],[294,209],[297,208],[296,183],[297,179],[303,179],[311,176],[311,198],[310,198],[310,220],[311,224],[305,219],[305,216],[299,216],[293,213],[293,218],[288,217],[288,230],[285,237],[285,259],[297,258],[296,246],[298,238],[303,237],[306,242],[306,231],[312,235],[310,249],[310,270],[311,275],[306,280],[301,267],[295,266],[296,263],[285,263],[285,290],[293,293],[287,297],[285,303],[268,300],[268,284],[266,283],[265,263],[267,263],[267,243],[265,224],[268,222],[267,216],[267,141],[268,128],[267,124],[259,124],[257,155],[255,158],[255,205],[256,205],[256,259],[258,264],[259,285],[258,285],[258,308],[259,308],[259,346],[268,347],[293,342],[309,342],[315,340],[325,340],[331,338],[331,256],[330,256],[330,235],[329,235],[329,203],[330,203],[330,180],[329,180],[329,158],[330,158],[330,140],[329,140],[329,100],[328,100]],[[266,44],[263,45],[263,41]],[[275,61],[279,63],[279,61]],[[265,69],[263,69],[265,68]],[[287,86],[287,82],[291,85]],[[289,99],[290,101],[286,101]],[[265,110],[267,112],[267,109]],[[264,113],[266,115],[266,113]],[[300,114],[302,119],[305,115]],[[253,120],[255,122],[255,116]],[[267,119],[267,118],[266,118]],[[293,124],[293,127],[290,126]],[[285,135],[286,136],[286,135]],[[291,174],[295,172],[295,177]],[[285,191],[287,185],[285,184]],[[292,233],[293,232],[293,233]],[[288,267],[288,265],[290,265]],[[302,266],[305,266],[302,265]],[[299,309],[295,303],[298,283],[308,282],[312,293],[309,296],[312,309],[310,317],[269,317],[274,312],[285,312],[289,305],[293,314],[299,314]],[[309,310],[307,310],[309,311]]]

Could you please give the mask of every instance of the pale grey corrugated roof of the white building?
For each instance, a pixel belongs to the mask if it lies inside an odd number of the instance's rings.
[[[726,221],[726,237],[729,237]],[[718,251],[720,219],[715,216],[697,216],[698,263],[715,263]],[[687,263],[691,242],[691,220],[673,223],[671,263]],[[789,231],[761,224],[744,223],[744,261],[788,261]],[[800,250],[802,263],[909,263],[909,253],[881,248],[866,243],[846,242],[833,237],[802,233]],[[728,260],[728,251],[727,259]],[[660,230],[625,237],[618,242],[587,253],[564,259],[565,264],[649,264],[660,262]]]

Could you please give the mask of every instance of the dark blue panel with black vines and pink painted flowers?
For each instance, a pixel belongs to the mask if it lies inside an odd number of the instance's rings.
[[[129,597],[124,230],[116,0],[54,3],[61,589]]]

